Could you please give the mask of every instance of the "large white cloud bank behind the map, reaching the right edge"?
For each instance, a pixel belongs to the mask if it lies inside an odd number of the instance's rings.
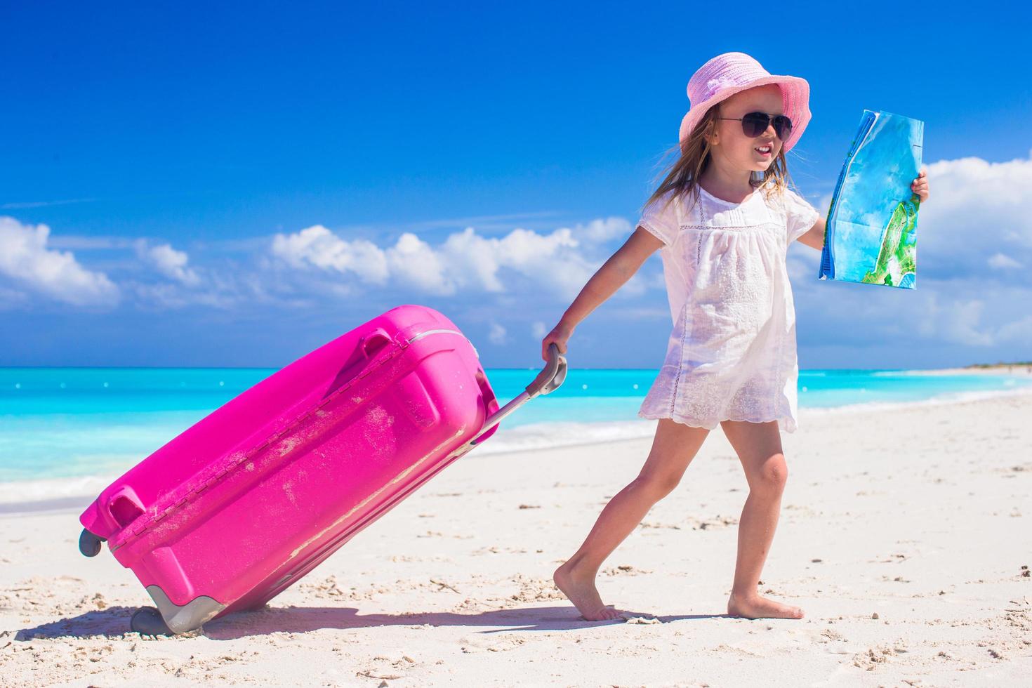
[[[922,348],[969,347],[972,360],[998,360],[1032,347],[1032,275],[1017,269],[1032,265],[1032,156],[942,160],[927,170],[916,290],[818,282],[819,253],[793,245],[788,270],[808,343],[908,342],[905,360]]]

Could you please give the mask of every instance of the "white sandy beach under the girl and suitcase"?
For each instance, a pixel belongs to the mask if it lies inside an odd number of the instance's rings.
[[[724,616],[745,481],[712,433],[614,553],[585,622],[551,583],[650,439],[455,463],[261,612],[188,637],[77,516],[0,515],[11,686],[1032,685],[1032,395],[801,414],[764,574],[799,621]],[[644,422],[644,421],[643,421]],[[486,446],[486,445],[485,445]],[[1024,567],[1024,568],[1023,568]]]

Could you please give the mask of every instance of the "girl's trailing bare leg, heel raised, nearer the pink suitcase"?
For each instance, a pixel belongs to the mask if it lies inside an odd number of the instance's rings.
[[[594,577],[602,562],[641,523],[652,504],[677,487],[708,433],[706,428],[660,419],[652,450],[638,478],[609,500],[584,544],[555,569],[555,585],[588,621],[619,616],[619,612],[603,604]]]

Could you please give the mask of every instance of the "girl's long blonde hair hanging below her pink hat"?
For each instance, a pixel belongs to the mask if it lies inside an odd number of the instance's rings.
[[[668,203],[676,198],[687,200],[690,197],[691,203],[699,200],[699,177],[709,167],[711,148],[709,138],[716,129],[719,117],[720,103],[716,103],[706,110],[702,120],[692,127],[687,138],[664,154],[663,157],[666,158],[671,153],[680,151],[680,157],[656,175],[656,178],[663,174],[666,174],[666,177],[645,201],[645,205],[642,207],[643,211],[653,201],[662,199],[670,192],[673,193],[670,193],[670,197],[667,199]],[[762,189],[767,197],[770,197],[771,194],[780,195],[788,187],[789,182],[788,164],[784,159],[784,145],[778,151],[777,158],[774,159],[770,167],[762,173],[753,172],[749,175],[749,185],[753,189]],[[685,207],[690,208],[691,203],[685,203]]]

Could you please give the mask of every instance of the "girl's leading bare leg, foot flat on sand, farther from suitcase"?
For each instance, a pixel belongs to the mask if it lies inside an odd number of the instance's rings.
[[[761,597],[756,590],[788,477],[777,422],[724,421],[720,426],[735,448],[749,483],[749,496],[738,523],[738,562],[728,614],[749,619],[802,619],[803,610]]]

